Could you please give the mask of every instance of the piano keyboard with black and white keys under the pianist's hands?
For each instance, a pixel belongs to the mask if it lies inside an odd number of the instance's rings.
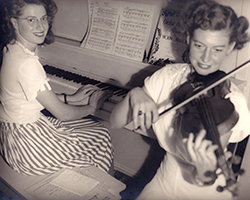
[[[121,101],[127,94],[128,90],[117,86],[102,83],[76,73],[65,71],[50,65],[44,65],[47,77],[50,79],[50,85],[55,93],[72,94],[82,85],[95,85],[102,90],[112,91],[112,96],[109,97],[97,112],[97,117],[103,120],[109,120],[109,115],[116,103]],[[87,102],[86,102],[87,103]]]

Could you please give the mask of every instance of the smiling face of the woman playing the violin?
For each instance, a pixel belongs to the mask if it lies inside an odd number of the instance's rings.
[[[195,71],[203,76],[220,69],[224,58],[233,50],[235,43],[229,44],[229,31],[202,30],[194,31],[189,38],[189,60]]]

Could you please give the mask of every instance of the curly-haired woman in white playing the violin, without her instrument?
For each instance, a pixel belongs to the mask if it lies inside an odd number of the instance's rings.
[[[207,172],[217,172],[218,145],[206,139],[206,130],[190,132],[186,138],[174,126],[176,111],[159,117],[172,105],[172,92],[188,81],[190,74],[208,76],[221,67],[234,50],[241,49],[248,36],[248,21],[237,17],[232,8],[214,1],[192,1],[183,12],[181,24],[187,35],[190,63],[169,64],[145,79],[142,88],[132,89],[116,105],[111,115],[113,128],[121,128],[133,121],[134,128],[143,131],[153,127],[166,155],[156,175],[146,185],[138,199],[230,199],[229,190],[217,191],[226,185],[225,176],[216,179]],[[233,127],[219,136],[223,150],[231,142],[243,140],[250,133],[250,114],[239,89],[229,84],[225,98],[234,105],[238,118]],[[197,123],[194,121],[193,123]],[[225,153],[229,157],[229,153]],[[215,179],[215,180],[214,180]]]

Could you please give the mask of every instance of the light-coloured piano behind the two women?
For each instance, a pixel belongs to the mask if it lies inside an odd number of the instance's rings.
[[[81,1],[81,3],[86,6],[86,1]],[[151,45],[163,0],[136,1],[156,5],[157,12],[154,16],[154,22],[152,22],[154,30],[149,37]],[[95,117],[98,117],[110,130],[115,148],[115,169],[131,177],[140,176],[139,173],[146,165],[145,160],[148,158],[149,152],[160,149],[152,129],[146,134],[139,130],[134,131],[133,128],[129,127],[113,130],[110,127],[109,118],[115,104],[131,88],[142,86],[144,79],[158,70],[159,66],[81,47],[87,27],[83,30],[80,25],[88,23],[88,13],[82,12],[84,5],[77,5],[80,4],[79,2],[72,4],[67,0],[56,0],[55,2],[58,6],[54,26],[55,42],[38,49],[40,61],[50,79],[51,87],[56,93],[69,94],[74,93],[83,84],[93,84],[103,90],[111,90],[113,96],[104,102],[101,109],[96,112]],[[75,12],[72,13],[72,10]],[[75,26],[74,21],[69,21],[70,17],[76,18],[74,20],[77,21]],[[83,22],[80,23],[79,18]],[[71,28],[69,29],[62,24],[70,24]],[[151,167],[160,163],[164,152],[161,149],[159,152],[162,154],[158,153],[158,158],[155,156],[158,161],[150,161],[155,163]],[[157,166],[155,166],[156,169]]]

